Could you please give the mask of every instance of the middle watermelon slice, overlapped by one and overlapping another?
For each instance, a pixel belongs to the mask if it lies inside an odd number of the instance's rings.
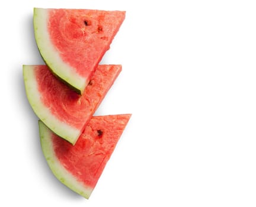
[[[28,101],[53,132],[75,144],[85,125],[121,72],[121,65],[99,65],[83,95],[61,82],[46,65],[24,65]]]

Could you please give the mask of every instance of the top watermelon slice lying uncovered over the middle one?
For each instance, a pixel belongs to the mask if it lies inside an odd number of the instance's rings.
[[[37,46],[52,72],[82,94],[124,18],[124,11],[34,8]]]

